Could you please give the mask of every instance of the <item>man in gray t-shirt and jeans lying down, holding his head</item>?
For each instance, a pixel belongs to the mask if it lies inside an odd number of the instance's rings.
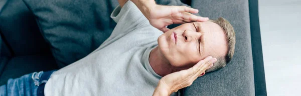
[[[118,1],[120,5],[111,13],[117,25],[96,50],[57,71],[10,79],[0,87],[0,94],[179,95],[179,89],[191,85],[205,71],[220,69],[231,60],[235,33],[226,19],[207,21],[208,18],[189,13],[198,10],[181,10],[183,6],[147,9],[152,3],[156,5],[154,0]],[[167,14],[172,10],[171,16],[156,14],[156,9]],[[188,19],[175,16],[175,12],[189,13]],[[164,17],[166,21],[161,20]],[[165,27],[183,22],[189,23],[172,29]]]

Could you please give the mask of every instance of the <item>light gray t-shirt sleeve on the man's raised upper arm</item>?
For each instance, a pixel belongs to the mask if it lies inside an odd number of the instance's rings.
[[[122,8],[118,5],[111,13],[111,18],[117,23],[111,36],[150,25],[139,8],[130,0]]]

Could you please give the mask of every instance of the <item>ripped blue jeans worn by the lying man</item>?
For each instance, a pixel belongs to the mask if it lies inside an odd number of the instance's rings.
[[[7,84],[0,86],[0,95],[44,95],[45,83],[54,71],[33,72],[16,79],[10,78]]]

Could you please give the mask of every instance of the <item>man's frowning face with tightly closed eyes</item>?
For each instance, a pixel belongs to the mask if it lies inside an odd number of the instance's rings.
[[[176,67],[187,67],[211,55],[224,56],[227,52],[226,35],[216,23],[185,23],[165,32],[158,38],[160,50]]]

